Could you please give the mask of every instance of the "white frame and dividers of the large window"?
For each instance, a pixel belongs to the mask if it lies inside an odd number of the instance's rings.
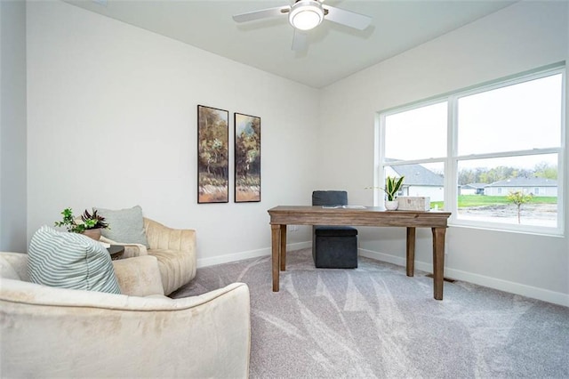
[[[517,85],[532,80],[561,75],[561,130],[559,135],[559,146],[555,148],[540,148],[540,149],[521,149],[512,151],[499,151],[483,154],[469,154],[464,156],[458,155],[458,102],[459,99],[465,96],[474,95],[477,93],[485,93],[495,89],[503,88],[509,85]],[[531,72],[526,72],[512,77],[501,78],[491,83],[476,85],[467,89],[453,91],[452,93],[445,93],[437,97],[433,97],[424,101],[415,101],[401,107],[386,109],[378,112],[376,115],[376,146],[375,146],[375,174],[374,185],[376,188],[381,188],[381,183],[385,182],[385,166],[397,165],[413,165],[413,164],[429,164],[429,163],[443,163],[444,165],[444,183],[445,183],[445,211],[451,212],[449,218],[449,225],[458,227],[468,227],[484,230],[505,230],[514,232],[523,232],[528,234],[542,234],[563,236],[565,230],[565,133],[567,133],[567,126],[565,124],[566,109],[566,69],[565,64],[557,64],[546,69],[536,69]],[[385,136],[386,136],[386,117],[394,114],[402,113],[405,111],[428,107],[440,102],[447,103],[447,135],[446,135],[446,157],[429,157],[425,159],[410,159],[410,160],[385,160]],[[388,142],[389,143],[389,142]],[[479,160],[485,158],[497,157],[520,157],[520,156],[538,156],[544,154],[557,154],[557,227],[539,226],[539,225],[519,225],[515,223],[502,223],[502,222],[487,222],[477,220],[466,220],[458,217],[458,166],[459,162],[466,160]],[[382,204],[382,192],[376,189],[373,194],[373,202],[375,206]]]

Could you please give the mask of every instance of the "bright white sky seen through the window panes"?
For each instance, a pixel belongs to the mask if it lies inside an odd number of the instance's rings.
[[[561,74],[458,97],[459,156],[561,146]],[[386,117],[386,157],[446,156],[447,102]],[[557,165],[557,154],[464,161],[463,167]]]

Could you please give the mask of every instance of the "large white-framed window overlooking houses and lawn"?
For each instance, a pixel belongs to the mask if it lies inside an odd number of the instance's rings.
[[[428,196],[453,224],[560,234],[565,69],[380,114],[378,181]]]

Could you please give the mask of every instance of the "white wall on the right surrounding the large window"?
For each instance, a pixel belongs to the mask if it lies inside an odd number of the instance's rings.
[[[376,113],[567,60],[568,5],[513,4],[325,88],[320,187],[345,188],[352,204],[372,204],[365,187],[373,184]],[[404,264],[405,230],[362,229],[359,238],[362,254]],[[569,305],[567,237],[451,226],[446,242],[448,277]],[[418,231],[418,268],[430,270],[430,244],[430,230]]]

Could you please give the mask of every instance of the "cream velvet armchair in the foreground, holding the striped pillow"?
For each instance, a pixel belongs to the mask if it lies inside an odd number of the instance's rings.
[[[149,251],[171,249],[172,234],[155,227]],[[192,246],[183,234],[174,245]],[[0,253],[0,376],[248,376],[246,285],[173,300],[158,258],[142,254],[113,262],[122,294],[107,294],[30,283],[27,264],[28,254]]]

